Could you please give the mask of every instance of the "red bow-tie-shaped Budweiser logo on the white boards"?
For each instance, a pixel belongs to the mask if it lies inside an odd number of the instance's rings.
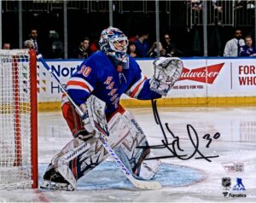
[[[179,80],[189,79],[201,83],[212,84],[223,66],[224,63],[220,63],[208,67],[195,68],[193,70],[183,67],[183,73]]]

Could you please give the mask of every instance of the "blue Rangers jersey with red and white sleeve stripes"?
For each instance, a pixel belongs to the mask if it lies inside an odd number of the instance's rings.
[[[119,107],[123,93],[140,100],[161,97],[150,90],[149,79],[143,76],[132,57],[129,57],[128,69],[119,69],[113,64],[102,51],[90,55],[69,78],[66,86],[68,95],[79,106],[94,95],[106,102],[106,113],[113,113]]]

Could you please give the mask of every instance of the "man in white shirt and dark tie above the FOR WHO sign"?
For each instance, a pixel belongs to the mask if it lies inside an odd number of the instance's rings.
[[[241,30],[236,29],[235,38],[230,39],[225,45],[224,56],[238,56],[240,53],[240,48],[243,46],[244,40],[241,38]]]

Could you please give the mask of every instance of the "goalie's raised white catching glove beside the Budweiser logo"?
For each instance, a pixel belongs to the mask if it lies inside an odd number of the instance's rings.
[[[150,90],[166,96],[183,71],[183,62],[176,57],[160,57],[154,61]]]

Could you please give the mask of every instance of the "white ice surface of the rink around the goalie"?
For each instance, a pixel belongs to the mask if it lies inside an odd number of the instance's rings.
[[[154,122],[151,108],[130,109],[148,136],[150,145],[161,144],[163,139],[160,126]],[[199,149],[206,156],[219,155],[212,158],[212,162],[205,159],[195,159],[199,154],[189,160],[177,158],[162,159],[162,162],[177,167],[191,167],[201,171],[204,178],[200,182],[186,186],[175,187],[164,185],[164,188],[154,191],[142,191],[132,188],[127,183],[120,188],[96,188],[101,181],[108,181],[102,177],[97,178],[93,189],[83,188],[86,178],[81,180],[79,190],[44,191],[41,189],[26,189],[15,191],[0,191],[0,202],[25,201],[25,202],[102,202],[102,201],[177,201],[177,202],[202,202],[202,201],[239,201],[256,202],[256,108],[255,107],[177,107],[159,108],[162,123],[168,123],[175,136],[180,137],[180,147],[185,154],[192,154],[193,145],[189,141],[186,125],[193,125],[199,137]],[[58,113],[39,113],[38,118],[38,162],[46,165],[54,154],[59,152],[71,139],[66,121]],[[207,133],[211,137],[219,132],[218,139],[212,139],[209,148],[206,148],[207,140],[203,136]],[[172,142],[172,136],[167,133],[168,140]],[[194,136],[195,137],[195,136]],[[167,150],[154,150],[154,155],[171,155]],[[111,159],[108,159],[111,160]],[[224,170],[222,163],[239,162],[245,165],[243,172],[230,172]],[[100,167],[100,166],[99,166]],[[41,169],[42,171],[43,169]],[[113,178],[117,168],[113,171]],[[93,172],[93,171],[92,171]],[[110,171],[111,172],[111,171]],[[106,174],[109,174],[106,172]],[[117,172],[118,174],[118,172]],[[43,174],[40,174],[42,176]],[[90,174],[88,174],[89,176]],[[94,174],[96,175],[96,173]],[[101,174],[102,175],[102,174]],[[168,174],[160,176],[168,177]],[[102,175],[103,176],[103,175]],[[118,175],[117,175],[118,176]],[[120,175],[121,176],[121,175]],[[178,176],[178,175],[177,175]],[[185,178],[186,176],[184,176]],[[222,178],[231,177],[232,186],[236,184],[236,177],[242,178],[246,188],[243,194],[246,198],[224,198]],[[119,180],[120,177],[117,177]],[[161,177],[162,178],[162,177]],[[91,182],[91,178],[88,177]],[[124,182],[122,182],[124,183]],[[126,183],[126,182],[125,182]],[[236,191],[230,191],[236,194]]]

